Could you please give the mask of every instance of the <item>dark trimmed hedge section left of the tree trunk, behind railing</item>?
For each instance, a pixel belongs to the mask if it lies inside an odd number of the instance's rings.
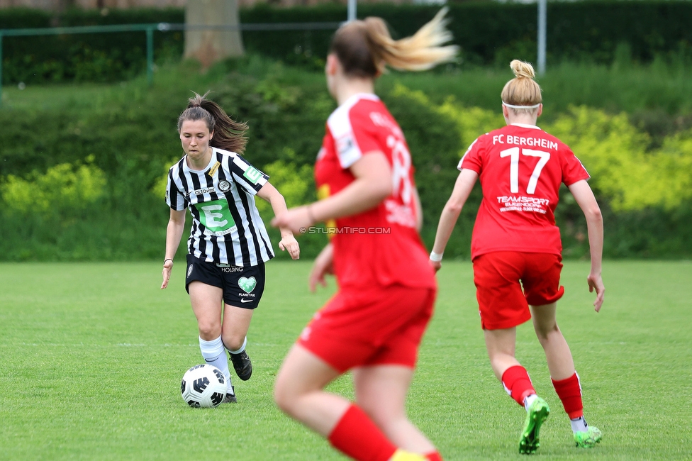
[[[43,10],[0,10],[0,28],[9,29],[182,21],[181,9],[113,10],[106,16],[98,10],[72,9],[59,17]],[[145,70],[144,32],[8,36],[2,41],[4,84],[113,82],[130,79]],[[157,60],[179,60],[182,43],[182,32],[155,31]]]

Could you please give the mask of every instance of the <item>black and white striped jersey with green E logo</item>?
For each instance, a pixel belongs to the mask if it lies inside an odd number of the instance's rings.
[[[188,252],[201,260],[256,266],[274,257],[255,195],[269,177],[235,152],[211,148],[211,161],[191,170],[186,155],[168,172],[166,203],[189,207],[192,228]]]

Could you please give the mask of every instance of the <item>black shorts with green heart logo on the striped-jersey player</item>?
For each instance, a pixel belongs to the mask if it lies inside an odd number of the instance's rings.
[[[191,282],[223,289],[223,302],[243,309],[255,309],[264,292],[264,262],[251,267],[206,262],[187,255],[185,289]]]

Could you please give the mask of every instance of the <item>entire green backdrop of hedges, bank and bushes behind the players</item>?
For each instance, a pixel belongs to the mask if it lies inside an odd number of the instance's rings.
[[[413,33],[437,6],[359,5]],[[499,94],[510,59],[535,60],[535,5],[450,4],[458,65],[392,72],[377,92],[411,148],[425,210],[423,238],[476,136],[504,122]],[[345,7],[243,9],[243,23],[341,21]],[[549,3],[548,72],[540,126],[573,148],[605,215],[607,257],[692,257],[692,3]],[[181,9],[0,10],[0,28],[181,23]],[[164,174],[181,148],[175,122],[191,91],[250,125],[247,159],[272,176],[289,206],[315,199],[311,167],[335,108],[321,71],[332,30],[245,32],[247,57],[201,72],[180,62],[183,35],[155,32],[157,72],[142,77],[144,33],[6,37],[0,123],[0,260],[162,257]],[[281,64],[283,62],[283,64]],[[70,82],[66,84],[65,82]],[[21,86],[20,88],[23,88]],[[557,221],[564,255],[587,255],[586,228],[567,189]],[[447,257],[469,257],[481,195],[459,218]],[[271,210],[261,201],[265,218]],[[277,233],[270,230],[277,240]],[[301,240],[316,255],[320,235]],[[286,255],[279,255],[286,257]]]

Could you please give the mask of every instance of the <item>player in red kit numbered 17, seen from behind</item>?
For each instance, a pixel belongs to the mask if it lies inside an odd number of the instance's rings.
[[[559,286],[562,243],[554,218],[560,184],[567,185],[586,216],[591,247],[586,281],[589,291],[596,290],[596,312],[605,292],[603,218],[586,183],[584,166],[567,145],[536,126],[542,99],[533,67],[518,60],[510,67],[516,77],[501,94],[507,126],[480,136],[459,162],[461,173],[442,210],[430,261],[435,270],[440,269],[452,228],[480,178],[483,200],[471,239],[476,298],[493,371],[527,411],[519,452],[535,452],[540,426],[549,413],[514,356],[516,326],[530,318],[554,388],[571,419],[576,445],[593,447],[601,440],[601,431],[586,425],[579,376],[555,320],[556,303],[564,293]]]

